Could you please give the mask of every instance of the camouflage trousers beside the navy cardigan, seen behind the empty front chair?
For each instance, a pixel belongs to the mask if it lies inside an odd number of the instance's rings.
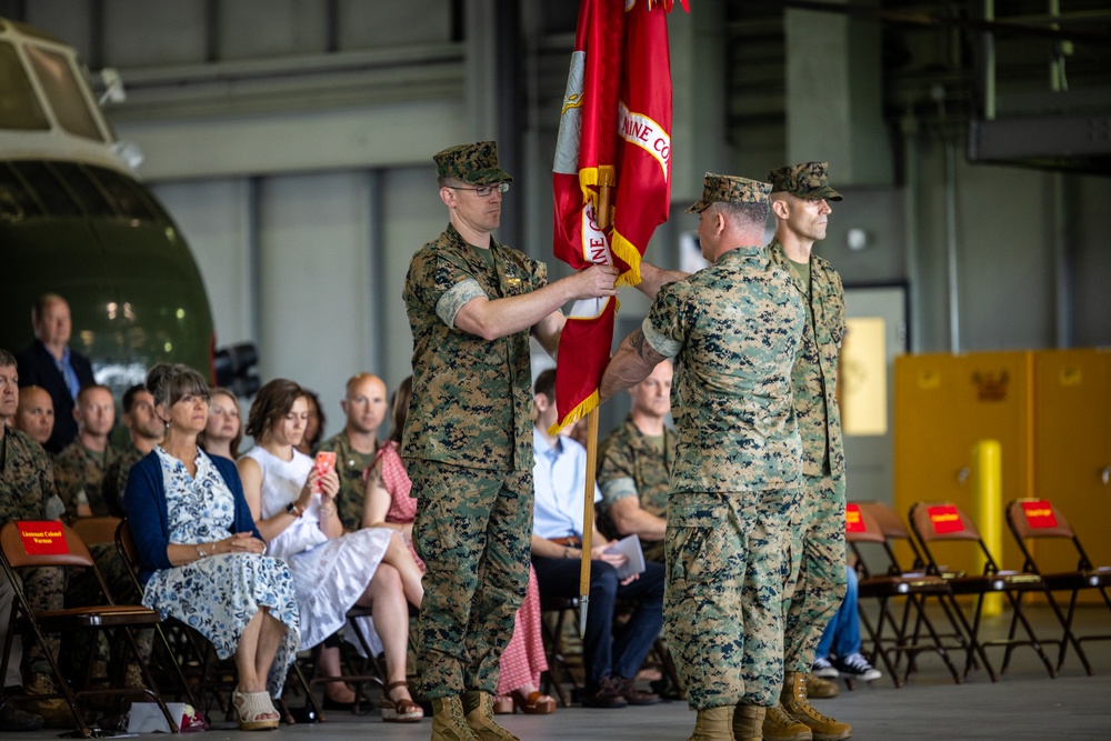
[[[134,584],[131,583],[127,565],[116,551],[114,543],[93,543],[89,547],[89,552],[92,553],[92,558],[97,562],[97,568],[100,569],[100,575],[104,578],[104,581],[108,583],[108,591],[118,604],[138,604],[142,600],[142,595],[136,592]],[[66,607],[83,607],[92,604],[100,599],[100,584],[97,583],[97,577],[91,571],[82,571],[70,578],[69,588],[66,590]],[[149,659],[154,631],[150,628],[144,628],[133,631],[133,634],[142,655]],[[70,657],[74,669],[83,669],[86,662],[90,659],[104,661],[106,663],[121,660],[124,662],[134,661],[131,652],[126,647],[126,639],[122,635],[119,635],[118,640],[113,641],[111,649],[108,645],[107,633],[98,631],[96,635],[94,657],[89,655],[91,633],[82,633],[74,637],[73,653]]]

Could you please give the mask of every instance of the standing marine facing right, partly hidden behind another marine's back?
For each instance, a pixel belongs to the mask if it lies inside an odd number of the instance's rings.
[[[827,170],[825,162],[804,162],[768,173],[772,209],[784,203],[788,209],[775,211],[775,238],[767,253],[773,264],[790,273],[792,290],[807,312],[802,351],[791,371],[802,437],[802,498],[792,522],[794,587],[784,605],[783,662],[788,681],[782,708],[809,725],[814,739],[829,741],[848,738],[850,727],[810,712],[804,690],[800,705],[798,688],[800,682],[805,685],[822,631],[845,591],[844,451],[837,399],[838,356],[845,329],[844,290],[832,266],[811,251],[813,242],[825,237],[825,220],[832,211],[828,201],[841,200],[841,194],[829,186]],[[775,202],[779,200],[784,203]],[[792,705],[799,707],[792,710]],[[777,718],[777,713],[769,714],[764,735],[792,738],[794,732],[782,723],[774,725]]]

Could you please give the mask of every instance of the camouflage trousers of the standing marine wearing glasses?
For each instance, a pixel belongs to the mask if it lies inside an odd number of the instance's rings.
[[[410,461],[424,560],[417,673],[429,698],[493,693],[529,583],[532,471]]]

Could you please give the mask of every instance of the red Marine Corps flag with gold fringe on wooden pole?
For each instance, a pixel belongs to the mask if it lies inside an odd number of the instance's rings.
[[[683,0],[683,8],[687,2]],[[640,282],[640,258],[671,201],[671,0],[581,0],[552,164],[556,257],[575,270],[613,264]],[[599,228],[598,188],[611,192]],[[575,301],[559,343],[557,428],[598,405],[613,343],[614,299]]]

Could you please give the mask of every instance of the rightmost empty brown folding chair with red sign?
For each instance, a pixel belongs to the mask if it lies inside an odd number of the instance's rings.
[[[1060,619],[1061,610],[1057,603],[1053,592],[1069,592],[1069,610],[1063,617],[1064,639],[1061,641],[1061,652],[1057,659],[1057,669],[1061,670],[1064,663],[1064,654],[1069,643],[1077,651],[1084,671],[1091,677],[1094,672],[1084,653],[1081,643],[1083,641],[1107,641],[1111,640],[1111,634],[1077,635],[1072,630],[1072,621],[1077,612],[1077,599],[1080,592],[1094,589],[1103,598],[1103,603],[1111,610],[1111,597],[1108,589],[1111,588],[1111,565],[1097,567],[1092,564],[1084,547],[1080,544],[1080,539],[1069,524],[1061,510],[1053,507],[1044,499],[1015,499],[1007,505],[1007,523],[1011,528],[1011,533],[1019,543],[1022,551],[1022,570],[1027,573],[1035,573],[1042,578],[1047,585],[1047,599]],[[1071,558],[1077,560],[1077,568],[1072,571],[1053,571],[1047,573],[1038,567],[1034,561],[1033,551],[1027,541],[1037,540],[1038,549],[1069,551]],[[1042,552],[1043,555],[1049,553]],[[1043,558],[1044,561],[1044,558]]]

